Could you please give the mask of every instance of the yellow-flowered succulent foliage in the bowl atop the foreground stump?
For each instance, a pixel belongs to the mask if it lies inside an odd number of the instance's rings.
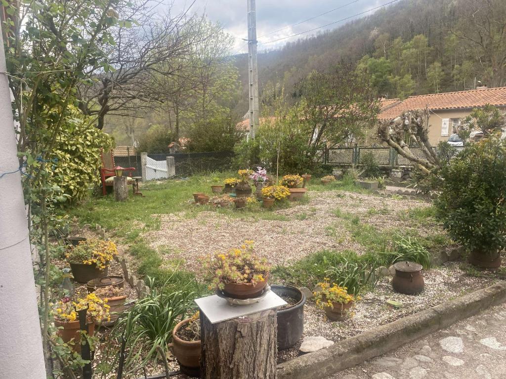
[[[255,253],[253,241],[244,241],[239,248],[207,257],[204,269],[206,279],[211,282],[209,288],[223,290],[226,283],[255,285],[266,279],[271,266]]]

